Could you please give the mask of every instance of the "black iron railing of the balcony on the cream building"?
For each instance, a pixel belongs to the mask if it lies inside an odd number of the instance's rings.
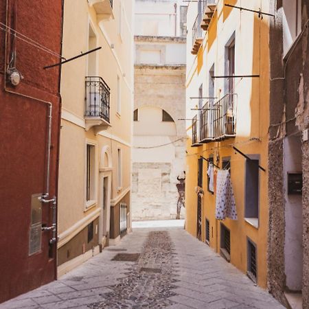
[[[100,76],[86,76],[85,116],[109,122],[111,89]]]

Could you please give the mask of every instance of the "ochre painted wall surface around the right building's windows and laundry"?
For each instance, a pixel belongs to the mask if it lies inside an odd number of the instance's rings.
[[[228,1],[239,5],[240,1]],[[251,8],[258,10],[261,1],[253,1]],[[263,8],[268,7],[268,1],[262,0]],[[203,82],[203,96],[208,94],[208,72],[215,64],[215,75],[225,73],[225,46],[233,31],[236,37],[236,74],[260,74],[260,78],[242,78],[235,80],[234,93],[237,93],[236,137],[218,142],[210,142],[192,148],[192,140],[187,142],[186,170],[186,229],[196,236],[197,218],[197,165],[198,158],[214,157],[214,163],[222,167],[222,158],[231,157],[231,182],[236,199],[238,220],[219,221],[215,218],[216,194],[207,192],[207,162],[203,163],[202,200],[202,241],[205,242],[205,219],[210,223],[209,245],[220,253],[220,224],[231,231],[231,263],[244,273],[247,273],[247,238],[257,246],[258,285],[266,288],[266,248],[268,235],[268,108],[269,108],[269,50],[268,50],[268,18],[260,20],[258,14],[244,14],[239,10],[224,6],[227,1],[219,1],[217,13],[211,21],[211,27],[205,34],[207,48],[204,49],[203,67],[199,74],[187,76],[187,93],[198,93]],[[240,14],[242,14],[240,16]],[[241,17],[241,18],[240,18]],[[190,21],[188,22],[190,23]],[[201,49],[202,50],[202,49]],[[201,63],[201,62],[200,62]],[[192,78],[192,80],[191,80]],[[215,80],[215,93],[218,98],[224,95],[225,80]],[[188,111],[187,111],[188,113]],[[190,136],[191,128],[187,129]],[[260,165],[266,172],[260,170],[260,209],[259,226],[253,227],[244,218],[245,196],[245,163],[246,159],[236,153],[231,146],[236,146],[246,155],[260,155]],[[218,159],[218,161],[217,161]],[[206,244],[205,244],[206,245]]]

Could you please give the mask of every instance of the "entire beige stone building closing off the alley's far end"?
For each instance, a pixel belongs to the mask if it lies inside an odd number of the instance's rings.
[[[133,220],[184,218],[185,16],[182,1],[135,1]]]

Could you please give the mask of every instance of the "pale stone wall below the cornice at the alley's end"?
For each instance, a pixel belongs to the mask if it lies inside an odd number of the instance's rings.
[[[135,65],[133,220],[176,218],[177,176],[185,170],[185,66]],[[162,111],[174,122],[162,122]],[[163,146],[164,145],[164,146]],[[160,146],[160,147],[158,147]],[[184,218],[185,209],[181,209]]]

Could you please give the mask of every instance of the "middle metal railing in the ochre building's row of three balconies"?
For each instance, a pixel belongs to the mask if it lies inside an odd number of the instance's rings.
[[[213,102],[207,102],[201,111],[200,141],[214,138],[214,107]]]

